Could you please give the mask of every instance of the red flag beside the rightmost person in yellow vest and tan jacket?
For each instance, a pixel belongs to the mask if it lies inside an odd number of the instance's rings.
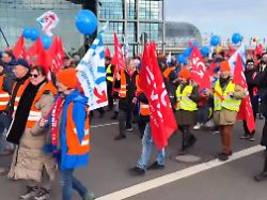
[[[241,87],[245,88],[246,90],[248,89],[245,74],[243,71],[242,59],[241,59],[240,55],[237,56],[233,82],[235,84],[240,85]],[[237,118],[240,120],[246,121],[248,130],[250,132],[255,130],[255,121],[254,121],[250,96],[249,96],[248,92],[247,92],[247,96],[242,99]]]

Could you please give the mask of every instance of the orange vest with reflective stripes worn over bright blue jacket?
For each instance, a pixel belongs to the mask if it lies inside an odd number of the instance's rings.
[[[89,115],[86,116],[84,136],[80,142],[77,135],[75,123],[72,119],[73,116],[73,103],[70,103],[67,110],[67,122],[66,122],[66,140],[68,146],[69,155],[84,155],[90,152],[90,124]]]

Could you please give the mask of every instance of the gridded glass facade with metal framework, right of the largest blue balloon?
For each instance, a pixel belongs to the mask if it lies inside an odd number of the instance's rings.
[[[98,17],[109,22],[105,44],[113,48],[113,33],[126,38],[130,52],[140,52],[145,40],[164,44],[164,0],[101,0]]]

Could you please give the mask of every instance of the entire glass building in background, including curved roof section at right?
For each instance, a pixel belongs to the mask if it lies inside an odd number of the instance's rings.
[[[53,31],[65,41],[65,48],[79,49],[83,36],[75,27],[75,15],[82,9],[90,9],[99,19],[99,27],[108,22],[105,44],[113,49],[113,33],[120,41],[125,38],[130,52],[141,52],[145,41],[153,40],[161,51],[177,52],[188,42],[201,42],[198,29],[187,23],[166,22],[166,0],[0,0],[0,27],[10,44],[14,44],[24,27],[38,27],[36,18],[48,10],[60,19]],[[29,43],[29,42],[28,42]],[[0,36],[0,48],[5,47]]]

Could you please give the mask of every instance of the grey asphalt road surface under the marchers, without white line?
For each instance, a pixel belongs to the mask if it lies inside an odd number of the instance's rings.
[[[114,123],[116,121],[109,120],[110,115],[111,113],[107,113],[103,119],[98,119],[96,115],[92,121],[94,125],[106,125],[92,128],[90,164],[87,168],[79,169],[76,172],[76,176],[97,197],[102,197],[124,188],[154,180],[157,177],[199,164],[180,163],[174,159],[181,143],[180,134],[178,133],[170,139],[164,170],[148,171],[145,176],[141,177],[131,176],[128,170],[135,165],[141,152],[141,140],[138,137],[138,130],[136,128],[133,133],[127,133],[125,140],[114,141],[113,137],[118,132],[118,125]],[[241,123],[236,124],[233,134],[234,152],[256,146],[259,143],[262,126],[263,121],[258,121],[256,141],[250,142],[239,139],[243,133],[243,128]],[[200,163],[213,160],[215,155],[221,150],[219,135],[213,135],[207,130],[194,131],[194,133],[198,140],[190,153],[201,157]],[[267,182],[255,183],[253,181],[253,176],[262,168],[262,155],[262,152],[251,154],[225,165],[211,168],[152,190],[140,193],[137,191],[137,195],[128,199],[266,200],[267,197],[264,197],[267,195]],[[10,159],[10,157],[1,157],[0,165],[8,166]],[[14,182],[7,180],[5,176],[0,177],[0,200],[16,200],[24,192],[24,181]],[[58,178],[54,183],[51,199],[60,200],[60,194],[60,181]],[[79,199],[76,193],[73,199]]]

